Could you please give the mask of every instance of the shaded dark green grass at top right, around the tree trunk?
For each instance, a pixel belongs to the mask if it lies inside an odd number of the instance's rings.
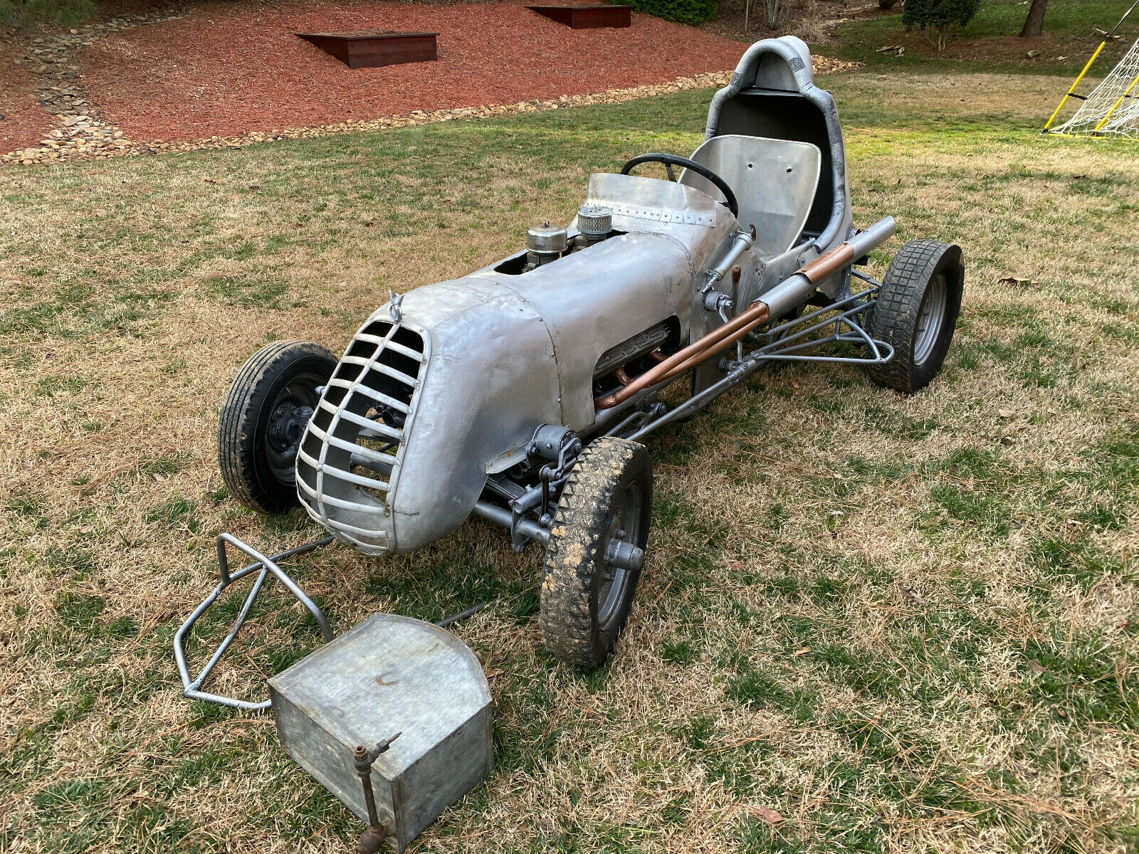
[[[821,48],[828,56],[866,63],[884,71],[970,71],[1021,74],[1067,75],[1075,77],[1134,0],[1050,0],[1044,16],[1042,39],[1019,39],[1029,3],[1024,0],[984,0],[977,16],[954,31],[953,41],[937,52],[926,33],[907,31],[901,3],[888,15],[855,19],[838,27],[834,43]],[[1139,15],[1120,27],[1117,35],[1097,60],[1097,75],[1106,74],[1139,35]],[[903,46],[906,52],[877,52],[886,46]],[[1030,57],[1030,51],[1039,51]]]

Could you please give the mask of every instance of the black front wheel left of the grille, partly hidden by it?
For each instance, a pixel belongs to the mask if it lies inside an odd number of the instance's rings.
[[[337,360],[305,340],[273,342],[245,363],[218,424],[218,465],[230,493],[251,510],[300,504],[296,451]]]

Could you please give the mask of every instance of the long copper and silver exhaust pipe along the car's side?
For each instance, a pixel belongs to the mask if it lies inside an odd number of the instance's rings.
[[[814,261],[804,264],[787,279],[776,285],[761,299],[756,299],[727,323],[716,327],[703,338],[693,342],[683,350],[677,351],[664,361],[649,368],[620,391],[605,397],[597,397],[593,405],[598,410],[612,409],[649,386],[655,386],[657,383],[663,383],[691,370],[727,345],[762,326],[770,318],[779,317],[800,305],[811,296],[819,282],[825,281],[843,268],[850,266],[853,261],[862,257],[870,249],[884,244],[893,236],[895,229],[894,217],[886,216],[866,231],[854,235],[846,243],[822,253]]]

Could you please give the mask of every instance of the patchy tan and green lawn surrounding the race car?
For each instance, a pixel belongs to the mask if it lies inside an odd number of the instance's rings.
[[[786,366],[655,435],[646,572],[595,673],[541,647],[538,549],[482,522],[300,561],[339,630],[491,603],[457,631],[498,767],[416,851],[1139,846],[1134,143],[1041,136],[1059,77],[820,82],[858,222],[965,248],[944,372],[907,399]],[[687,154],[710,97],[0,173],[0,851],[347,849],[269,716],[180,693],[218,532],[317,534],[222,487],[227,385],[567,220],[591,172]],[[226,691],[318,643],[263,599]]]

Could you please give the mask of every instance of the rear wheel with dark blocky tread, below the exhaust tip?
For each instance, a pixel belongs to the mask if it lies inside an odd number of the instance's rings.
[[[920,392],[941,370],[961,311],[961,247],[912,240],[890,263],[867,332],[894,348],[870,368],[870,378],[903,394]]]

